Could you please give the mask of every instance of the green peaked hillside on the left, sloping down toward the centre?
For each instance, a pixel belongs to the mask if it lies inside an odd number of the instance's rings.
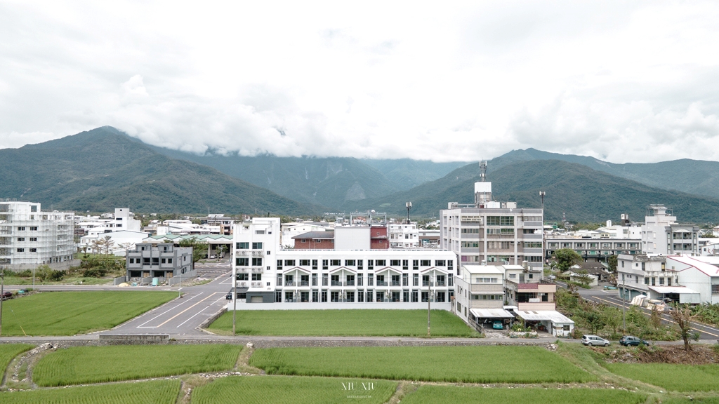
[[[211,167],[174,160],[111,127],[0,150],[0,197],[46,208],[313,214],[309,206]]]

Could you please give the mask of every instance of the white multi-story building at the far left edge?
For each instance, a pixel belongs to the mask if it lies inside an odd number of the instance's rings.
[[[74,216],[72,212],[43,212],[40,203],[0,202],[0,265],[17,270],[69,265]]]

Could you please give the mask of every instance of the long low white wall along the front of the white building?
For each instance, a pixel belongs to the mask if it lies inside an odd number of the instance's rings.
[[[239,303],[237,310],[338,310],[348,308],[376,308],[382,310],[426,310],[427,302],[404,303],[404,302],[372,302],[372,303]],[[452,308],[451,303],[431,303],[433,310],[446,310]],[[227,311],[234,310],[232,300],[227,303]]]

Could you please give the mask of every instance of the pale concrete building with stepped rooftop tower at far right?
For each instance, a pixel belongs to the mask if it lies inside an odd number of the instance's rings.
[[[641,226],[641,251],[645,254],[699,254],[699,227],[679,224],[676,216],[669,216],[664,205],[649,206]]]

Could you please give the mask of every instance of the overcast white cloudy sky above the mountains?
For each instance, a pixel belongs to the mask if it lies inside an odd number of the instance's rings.
[[[719,3],[0,1],[0,147],[719,160]]]

